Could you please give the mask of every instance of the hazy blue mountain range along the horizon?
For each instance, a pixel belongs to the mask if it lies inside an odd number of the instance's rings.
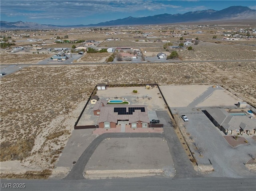
[[[184,22],[200,22],[200,21],[214,21],[214,20],[256,20],[256,10],[252,10],[245,6],[231,6],[226,9],[203,10],[187,12],[184,14],[159,14],[154,16],[134,18],[132,16],[117,19],[98,24],[90,25],[72,25],[72,26],[57,26],[48,24],[38,24],[34,22],[6,22],[1,21],[1,30],[10,29],[52,29],[52,28],[82,28],[82,27],[105,27],[105,26],[120,26],[120,25],[150,25],[150,24],[172,24]]]

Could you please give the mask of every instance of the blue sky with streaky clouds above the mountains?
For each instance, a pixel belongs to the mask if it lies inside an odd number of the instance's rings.
[[[120,18],[177,14],[197,10],[222,10],[230,6],[256,9],[246,0],[0,0],[1,21],[39,24],[97,24]]]

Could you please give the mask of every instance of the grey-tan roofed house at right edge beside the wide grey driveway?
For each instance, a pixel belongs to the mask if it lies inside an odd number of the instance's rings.
[[[226,135],[256,134],[256,118],[250,114],[228,113],[226,110],[218,108],[206,108],[204,113]]]

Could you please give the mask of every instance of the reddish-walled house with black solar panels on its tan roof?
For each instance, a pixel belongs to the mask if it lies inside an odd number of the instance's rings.
[[[147,128],[148,110],[145,105],[107,104],[107,100],[98,100],[94,105],[94,115],[99,116],[99,128]]]

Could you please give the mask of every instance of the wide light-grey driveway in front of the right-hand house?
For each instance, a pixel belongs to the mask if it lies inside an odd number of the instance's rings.
[[[198,114],[192,112],[192,114],[187,113],[186,115],[189,118],[189,122],[184,122],[186,132],[192,136],[194,143],[205,150],[203,158],[194,151],[196,160],[198,163],[209,163],[208,159],[210,159],[214,167],[215,171],[209,176],[238,178],[255,175],[243,164],[250,159],[248,153],[255,154],[256,142],[254,140],[247,139],[249,145],[232,148],[223,138],[224,134],[212,124],[203,112]],[[190,144],[190,149],[194,150],[193,143]]]

